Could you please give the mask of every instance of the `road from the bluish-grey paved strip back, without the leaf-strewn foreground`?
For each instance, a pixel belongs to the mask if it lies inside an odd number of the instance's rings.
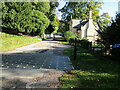
[[[34,68],[71,70],[68,56],[63,55],[65,48],[70,48],[58,41],[42,41],[30,46],[17,48],[2,54],[4,68]]]

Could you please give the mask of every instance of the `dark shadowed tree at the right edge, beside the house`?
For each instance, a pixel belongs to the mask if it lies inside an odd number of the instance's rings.
[[[102,31],[98,31],[105,45],[105,53],[109,53],[110,45],[120,43],[120,15],[116,15],[116,19],[112,24],[105,27]]]

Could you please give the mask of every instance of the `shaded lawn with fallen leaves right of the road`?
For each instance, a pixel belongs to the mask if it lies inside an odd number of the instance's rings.
[[[73,60],[73,49],[65,49],[75,70],[64,74],[60,80],[61,88],[120,88],[120,62],[89,53],[85,49],[77,51]]]

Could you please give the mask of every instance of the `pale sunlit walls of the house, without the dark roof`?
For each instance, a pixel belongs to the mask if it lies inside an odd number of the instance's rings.
[[[74,33],[77,33],[79,38],[87,38],[89,39],[89,41],[92,42],[98,39],[98,33],[96,29],[99,29],[99,27],[97,24],[96,24],[97,27],[93,24],[92,18],[90,18],[89,21],[84,26],[81,26],[81,30],[77,32],[77,28],[73,27],[78,24],[80,24],[80,20],[72,20],[70,22],[70,30],[73,31]]]

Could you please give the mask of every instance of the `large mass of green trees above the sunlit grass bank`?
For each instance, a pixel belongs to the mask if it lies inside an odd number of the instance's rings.
[[[2,27],[42,36],[50,24],[53,29],[51,33],[55,33],[58,30],[58,21],[52,10],[57,5],[52,2],[3,2]]]

